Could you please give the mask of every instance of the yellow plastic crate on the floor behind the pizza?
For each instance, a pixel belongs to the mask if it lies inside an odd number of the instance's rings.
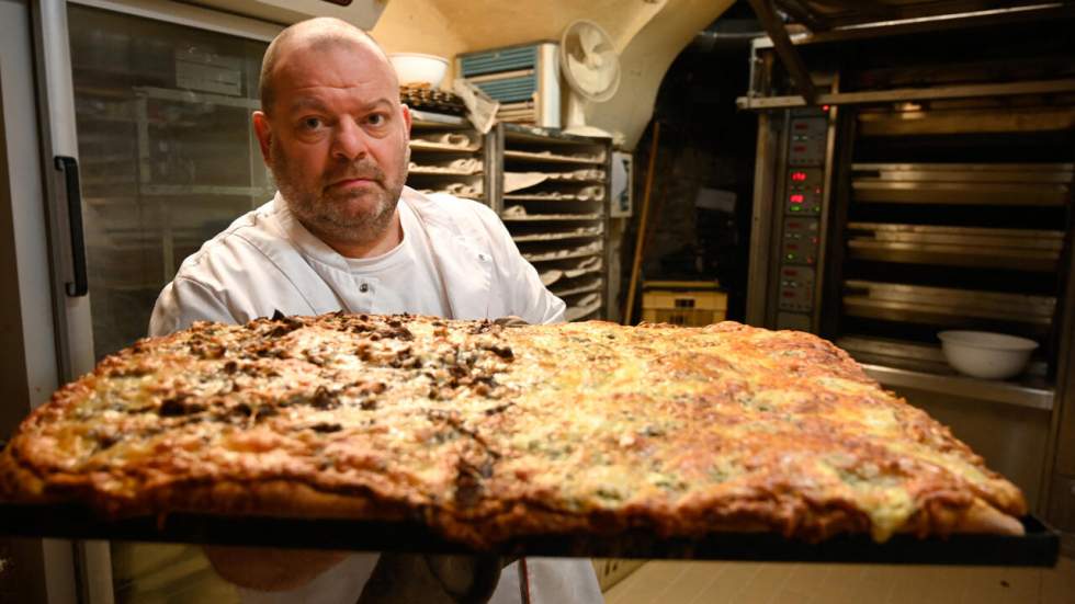
[[[728,295],[708,281],[652,281],[642,289],[642,320],[704,327],[727,315]]]

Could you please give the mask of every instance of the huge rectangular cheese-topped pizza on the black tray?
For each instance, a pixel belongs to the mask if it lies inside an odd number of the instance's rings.
[[[535,534],[1019,534],[1019,490],[814,335],[734,322],[201,322],[36,409],[0,497],[108,517],[420,520]]]

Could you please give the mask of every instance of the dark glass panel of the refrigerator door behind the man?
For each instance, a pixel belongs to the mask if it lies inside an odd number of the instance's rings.
[[[98,360],[184,258],[273,187],[250,126],[267,44],[69,7]],[[236,602],[196,546],[112,545],[116,602]]]

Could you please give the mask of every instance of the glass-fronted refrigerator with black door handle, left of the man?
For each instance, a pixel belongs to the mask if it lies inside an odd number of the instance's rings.
[[[87,4],[0,0],[0,440],[144,337],[182,260],[272,195],[250,114],[280,27]],[[0,601],[235,599],[196,547],[0,539]]]

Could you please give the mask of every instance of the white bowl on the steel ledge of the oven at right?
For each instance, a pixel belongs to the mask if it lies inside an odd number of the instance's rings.
[[[1019,375],[1038,342],[988,331],[942,331],[937,334],[948,364],[961,374],[984,379]]]

